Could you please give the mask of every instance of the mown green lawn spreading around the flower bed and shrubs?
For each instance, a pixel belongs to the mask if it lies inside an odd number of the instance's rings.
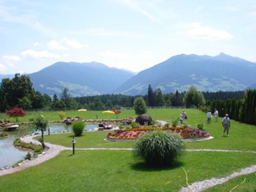
[[[148,110],[153,119],[171,122],[179,117],[182,109]],[[80,116],[84,119],[107,119],[102,111],[66,111],[66,117]],[[186,109],[187,123],[196,126],[206,122],[206,114],[196,109]],[[60,121],[58,111],[44,112],[50,121]],[[5,118],[1,114],[0,118]],[[134,110],[124,110],[118,118],[136,117]],[[33,117],[27,112],[19,122]],[[116,118],[110,114],[109,118]],[[210,178],[223,178],[242,168],[256,164],[256,127],[235,122],[231,118],[230,137],[222,137],[222,118],[206,130],[213,139],[186,142],[186,150],[174,167],[147,168],[133,158],[134,142],[106,142],[109,131],[84,132],[75,138],[75,154],[62,151],[56,158],[30,167],[15,174],[2,176],[1,191],[179,191],[182,186]],[[72,146],[73,133],[45,135],[45,141],[62,146]],[[86,150],[102,148],[102,150]],[[119,150],[111,150],[118,148]],[[79,150],[82,149],[82,150]],[[103,150],[104,149],[104,150]],[[230,150],[204,151],[206,149]],[[237,150],[237,151],[234,151]],[[254,191],[256,174],[246,174],[231,179],[206,191]],[[15,187],[18,186],[18,187]]]

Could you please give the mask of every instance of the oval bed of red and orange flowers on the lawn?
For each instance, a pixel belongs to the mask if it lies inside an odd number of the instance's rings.
[[[136,139],[139,138],[142,134],[145,134],[149,130],[167,130],[182,136],[183,139],[190,138],[207,138],[210,137],[210,134],[206,130],[200,130],[194,127],[184,127],[184,126],[175,126],[175,127],[145,127],[145,128],[129,128],[125,130],[115,130],[113,134],[107,134],[107,140],[118,140],[118,139]]]

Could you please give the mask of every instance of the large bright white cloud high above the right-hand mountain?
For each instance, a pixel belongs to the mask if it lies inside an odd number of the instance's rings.
[[[210,26],[202,26],[200,22],[191,23],[188,26],[187,34],[204,39],[230,39],[233,35],[225,30],[216,30]]]

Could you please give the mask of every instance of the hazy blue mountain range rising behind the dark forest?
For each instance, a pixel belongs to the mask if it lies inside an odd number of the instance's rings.
[[[144,95],[150,85],[163,94],[186,91],[216,92],[254,89],[256,63],[226,54],[179,54],[135,74],[99,62],[56,62],[26,74],[42,94],[60,95],[66,87],[72,97],[98,94]],[[10,75],[8,76],[11,77]],[[6,76],[0,75],[0,78]]]

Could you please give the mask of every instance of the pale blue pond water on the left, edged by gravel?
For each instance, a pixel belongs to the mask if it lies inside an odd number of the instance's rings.
[[[98,127],[98,124],[86,124],[84,130],[93,131],[96,127]],[[50,133],[71,131],[72,128],[70,125],[66,126],[66,124],[50,124]],[[0,168],[13,166],[16,162],[26,156],[28,151],[20,150],[14,147],[14,139],[22,138],[27,134],[33,133],[34,130],[31,127],[20,126],[18,130],[7,132],[7,134],[10,134],[10,137],[0,139]],[[46,131],[45,134],[48,134],[48,131]]]

